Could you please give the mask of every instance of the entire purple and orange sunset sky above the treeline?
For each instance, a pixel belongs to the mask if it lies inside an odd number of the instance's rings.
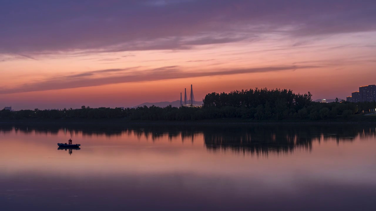
[[[374,0],[0,0],[0,108],[376,84]]]

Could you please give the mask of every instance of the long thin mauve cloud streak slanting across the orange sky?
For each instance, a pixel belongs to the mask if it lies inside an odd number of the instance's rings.
[[[222,69],[219,71],[192,72],[180,69],[180,66],[165,66],[155,69],[103,69],[89,71],[80,74],[52,77],[44,81],[22,84],[13,88],[1,88],[0,94],[35,92],[57,89],[71,89],[79,87],[103,86],[107,84],[132,83],[143,81],[159,81],[178,78],[194,78],[216,75],[250,74],[258,72],[294,71],[296,69],[318,68],[318,66],[273,66],[262,68],[245,69]],[[103,74],[115,73],[115,75],[105,76]]]

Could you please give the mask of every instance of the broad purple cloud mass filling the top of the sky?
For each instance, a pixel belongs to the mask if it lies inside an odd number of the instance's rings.
[[[376,30],[374,8],[374,0],[6,1],[0,53],[33,59],[77,50],[184,50],[268,33],[301,38],[369,32]]]

